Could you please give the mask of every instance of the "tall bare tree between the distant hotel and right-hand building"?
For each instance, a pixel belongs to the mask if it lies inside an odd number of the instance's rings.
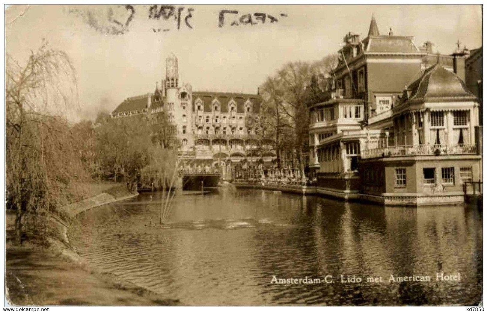
[[[288,152],[294,150],[288,154],[293,163],[296,158],[297,165],[303,165],[302,152],[308,149],[308,106],[329,99],[333,88],[331,73],[337,63],[337,55],[327,55],[311,63],[290,62],[268,77],[261,87],[263,120],[267,126],[272,125],[267,129],[272,129],[276,136],[274,142],[285,137],[276,148],[280,151],[286,146]]]

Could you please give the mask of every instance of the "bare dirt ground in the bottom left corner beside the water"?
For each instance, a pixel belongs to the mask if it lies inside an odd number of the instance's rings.
[[[110,274],[35,247],[6,248],[6,286],[13,305],[178,305]]]

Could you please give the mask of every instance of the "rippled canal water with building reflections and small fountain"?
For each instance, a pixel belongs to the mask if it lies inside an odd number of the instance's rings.
[[[478,208],[384,208],[227,186],[204,195],[179,193],[168,224],[160,226],[160,204],[161,193],[142,193],[83,213],[78,252],[90,266],[184,305],[481,300]],[[437,273],[460,280],[437,281]],[[354,275],[362,281],[342,282]],[[431,280],[391,281],[391,275]],[[306,277],[317,282],[294,280]],[[276,283],[287,278],[293,280]]]

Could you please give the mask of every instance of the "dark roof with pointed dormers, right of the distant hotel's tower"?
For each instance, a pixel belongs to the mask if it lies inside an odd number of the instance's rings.
[[[233,93],[233,92],[210,92],[210,91],[196,91],[193,92],[193,103],[197,99],[203,101],[204,111],[212,111],[211,104],[214,99],[220,102],[220,111],[228,112],[228,103],[233,99],[237,103],[237,112],[243,113],[245,111],[245,102],[247,99],[252,103],[252,111],[258,113],[262,103],[262,97],[258,94],[248,93]]]

